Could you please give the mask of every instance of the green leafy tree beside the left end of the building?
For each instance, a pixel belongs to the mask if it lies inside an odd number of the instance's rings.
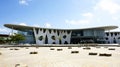
[[[14,34],[12,36],[10,36],[10,39],[13,43],[19,43],[20,41],[25,40],[25,37],[21,34]]]

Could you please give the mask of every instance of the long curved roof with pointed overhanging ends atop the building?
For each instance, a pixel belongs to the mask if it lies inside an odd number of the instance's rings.
[[[33,27],[33,26],[25,26],[25,25],[16,25],[16,24],[4,24],[5,27],[26,31],[26,30],[33,30],[33,28],[39,29],[41,27]],[[102,26],[102,27],[92,27],[92,28],[83,28],[83,29],[54,29],[54,28],[42,28],[42,29],[52,29],[52,30],[90,30],[90,29],[102,29],[102,30],[113,30],[118,28],[118,26]]]

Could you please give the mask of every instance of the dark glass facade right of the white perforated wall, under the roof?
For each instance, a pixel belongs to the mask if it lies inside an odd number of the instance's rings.
[[[88,29],[72,31],[71,43],[104,43],[104,30]]]

